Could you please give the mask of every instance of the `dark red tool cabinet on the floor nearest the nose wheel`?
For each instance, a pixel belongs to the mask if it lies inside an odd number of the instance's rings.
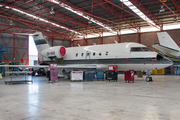
[[[134,83],[134,70],[129,70],[124,72],[124,81]]]

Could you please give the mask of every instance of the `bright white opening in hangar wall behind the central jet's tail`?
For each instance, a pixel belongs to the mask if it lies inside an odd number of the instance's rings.
[[[37,65],[38,51],[34,43],[34,38],[29,36],[29,65]]]

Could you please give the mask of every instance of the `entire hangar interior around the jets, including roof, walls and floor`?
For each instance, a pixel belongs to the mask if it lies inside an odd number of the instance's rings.
[[[152,47],[159,32],[180,45],[179,0],[0,0],[0,13],[0,65],[29,65],[28,35],[36,32],[52,47],[133,42],[159,53]],[[0,119],[180,119],[179,66],[152,70],[153,82],[135,72],[132,84],[124,82],[126,71],[118,71],[117,82],[64,77],[55,83],[5,71],[0,67]],[[31,83],[4,84],[24,75]]]

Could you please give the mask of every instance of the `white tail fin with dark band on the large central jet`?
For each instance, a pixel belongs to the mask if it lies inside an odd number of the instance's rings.
[[[50,47],[48,41],[44,38],[41,32],[36,32],[33,35],[35,45],[38,50],[38,58],[40,61],[50,61],[49,58],[45,58],[41,55],[41,52]]]

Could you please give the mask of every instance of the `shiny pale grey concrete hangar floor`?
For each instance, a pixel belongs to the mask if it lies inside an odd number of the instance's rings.
[[[0,80],[0,120],[179,120],[180,76],[152,77],[153,82],[135,83],[125,83],[124,75],[118,82]]]

